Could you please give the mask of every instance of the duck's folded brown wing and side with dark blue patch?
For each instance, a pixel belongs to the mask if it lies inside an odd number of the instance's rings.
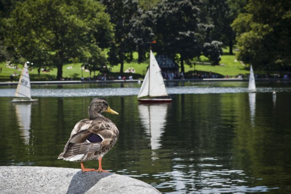
[[[58,159],[103,150],[103,146],[111,145],[110,143],[116,136],[112,128],[116,128],[116,126],[103,120],[81,120],[72,130],[64,152]]]

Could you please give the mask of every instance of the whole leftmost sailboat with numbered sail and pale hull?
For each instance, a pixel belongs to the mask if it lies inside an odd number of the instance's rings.
[[[27,64],[25,63],[18,81],[18,85],[16,88],[15,97],[12,102],[31,102],[36,101],[38,99],[32,99],[31,97],[31,85],[30,78],[28,73]]]

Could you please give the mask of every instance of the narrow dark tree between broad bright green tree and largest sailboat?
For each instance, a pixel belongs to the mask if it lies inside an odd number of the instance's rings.
[[[106,5],[106,11],[114,24],[114,40],[109,49],[111,65],[120,64],[120,73],[123,73],[124,61],[132,60],[132,51],[135,50],[130,31],[131,19],[138,13],[136,0],[100,0]]]

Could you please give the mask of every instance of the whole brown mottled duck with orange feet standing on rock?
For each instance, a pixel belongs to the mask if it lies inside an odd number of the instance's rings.
[[[108,172],[102,169],[102,157],[116,143],[119,131],[110,119],[101,115],[102,112],[118,114],[104,98],[94,98],[88,108],[89,119],[83,119],[75,125],[58,159],[81,162],[83,172]],[[84,167],[83,162],[91,160],[98,160],[97,170]]]

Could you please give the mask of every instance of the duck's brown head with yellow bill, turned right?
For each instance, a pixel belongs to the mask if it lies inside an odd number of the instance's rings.
[[[91,101],[90,106],[88,108],[89,119],[92,120],[103,112],[118,114],[109,107],[107,101],[104,98],[102,97],[94,98]]]

